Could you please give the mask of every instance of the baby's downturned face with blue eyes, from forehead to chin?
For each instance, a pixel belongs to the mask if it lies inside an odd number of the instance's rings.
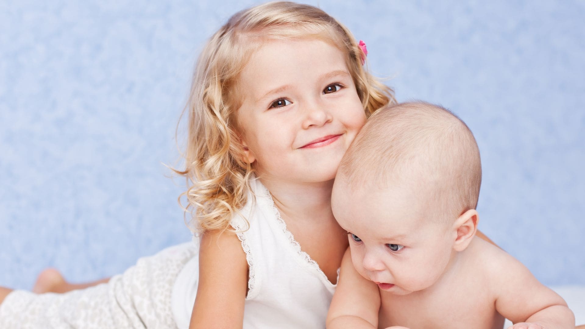
[[[357,272],[381,290],[408,294],[433,285],[454,255],[456,230],[414,188],[333,186],[333,214],[347,230]]]

